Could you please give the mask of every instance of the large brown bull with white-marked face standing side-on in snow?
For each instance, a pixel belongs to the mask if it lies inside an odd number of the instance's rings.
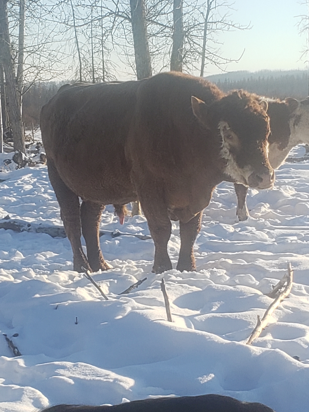
[[[74,270],[110,268],[98,239],[103,205],[136,199],[155,243],[153,271],[172,268],[171,220],[180,221],[177,269],[194,270],[202,211],[224,175],[250,187],[273,184],[266,109],[247,92],[225,95],[181,73],[61,88],[40,126]]]

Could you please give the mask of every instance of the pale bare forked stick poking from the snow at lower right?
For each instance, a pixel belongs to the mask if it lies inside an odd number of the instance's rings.
[[[293,285],[293,270],[292,270],[290,263],[288,263],[288,274],[285,274],[283,276],[281,281],[279,281],[279,283],[275,286],[274,290],[278,291],[280,288],[282,288],[285,281],[286,281],[286,287],[281,293],[279,293],[279,295],[276,297],[274,302],[272,302],[272,304],[269,305],[262,319],[260,319],[260,316],[258,315],[258,323],[253,329],[253,332],[251,333],[248,339],[247,345],[250,345],[254,341],[254,339],[260,336],[262,330],[267,326],[267,323],[269,321],[269,318],[272,316],[273,311],[279,306],[279,304],[283,301],[283,299],[287,297],[288,294],[290,293],[292,289],[292,285]],[[267,296],[269,295],[273,296],[274,290],[272,290],[272,292],[269,293]]]

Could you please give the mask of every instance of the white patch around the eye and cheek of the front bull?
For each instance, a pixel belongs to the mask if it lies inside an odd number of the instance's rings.
[[[222,137],[222,149],[220,155],[223,159],[227,159],[225,173],[231,176],[236,183],[248,185],[248,177],[252,173],[251,168],[245,167],[241,169],[230,152],[231,147],[240,147],[238,136],[230,129],[227,122],[219,122],[218,129]]]

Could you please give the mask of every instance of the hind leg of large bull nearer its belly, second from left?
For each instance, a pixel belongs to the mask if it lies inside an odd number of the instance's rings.
[[[86,241],[87,258],[93,272],[99,269],[112,269],[105,262],[99,241],[99,227],[104,206],[90,201],[83,201],[81,206],[82,234]]]

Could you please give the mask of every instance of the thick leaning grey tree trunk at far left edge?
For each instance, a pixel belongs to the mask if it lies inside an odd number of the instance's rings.
[[[0,63],[3,65],[7,92],[7,112],[12,124],[14,150],[25,153],[25,139],[23,136],[23,123],[21,120],[21,107],[17,92],[17,82],[11,55],[11,42],[9,39],[9,21],[7,17],[7,1],[0,1]]]

